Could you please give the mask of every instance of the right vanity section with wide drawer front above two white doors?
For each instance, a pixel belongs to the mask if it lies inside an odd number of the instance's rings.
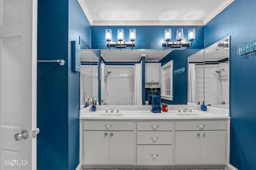
[[[225,164],[226,121],[175,123],[175,164]]]

